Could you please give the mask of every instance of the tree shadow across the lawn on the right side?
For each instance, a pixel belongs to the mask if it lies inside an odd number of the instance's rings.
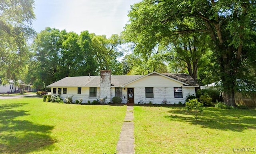
[[[202,113],[198,114],[198,121],[196,121],[193,113],[186,111],[183,107],[172,107],[168,113],[165,117],[170,121],[182,121],[200,125],[200,127],[204,128],[238,132],[242,132],[245,129],[256,129],[256,112],[252,109],[216,109],[214,107],[206,107]]]

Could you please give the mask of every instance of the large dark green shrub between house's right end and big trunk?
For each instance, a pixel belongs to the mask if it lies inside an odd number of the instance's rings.
[[[215,89],[200,89],[196,91],[196,98],[199,98],[201,95],[208,95],[212,98],[212,102],[223,101],[222,97],[220,97],[220,91]]]

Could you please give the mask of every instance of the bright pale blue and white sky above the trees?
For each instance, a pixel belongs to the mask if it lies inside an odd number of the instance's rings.
[[[35,0],[37,32],[45,27],[96,35],[120,34],[128,21],[130,5],[141,0]]]

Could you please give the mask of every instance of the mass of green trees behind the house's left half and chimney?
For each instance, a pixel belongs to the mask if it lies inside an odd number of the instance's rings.
[[[106,38],[88,31],[78,35],[46,27],[34,39],[27,82],[44,89],[67,76],[97,75],[103,69],[112,70],[114,75],[122,74],[117,60],[122,56],[119,45],[118,35]]]

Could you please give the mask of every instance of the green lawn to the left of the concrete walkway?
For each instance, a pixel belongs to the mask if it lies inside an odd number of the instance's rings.
[[[125,106],[0,100],[0,153],[114,153]]]

